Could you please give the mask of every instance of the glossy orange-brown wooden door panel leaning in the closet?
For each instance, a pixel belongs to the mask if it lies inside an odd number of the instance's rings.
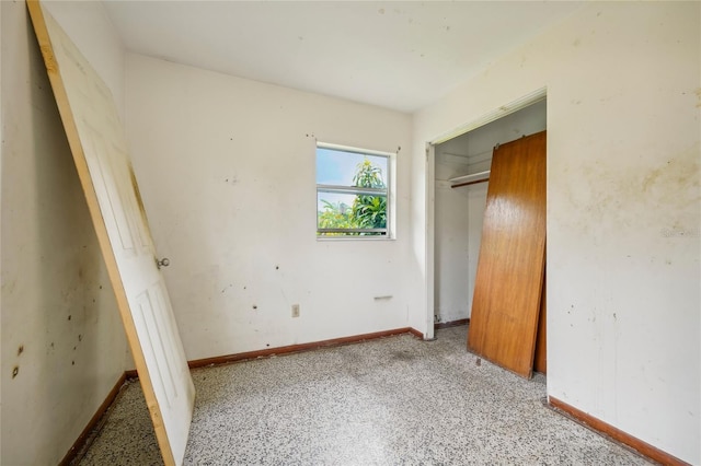
[[[529,377],[545,253],[545,131],[494,150],[468,348]]]

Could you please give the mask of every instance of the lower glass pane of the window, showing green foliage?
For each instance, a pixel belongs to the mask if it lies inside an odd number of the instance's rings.
[[[387,196],[317,193],[320,229],[387,229]]]

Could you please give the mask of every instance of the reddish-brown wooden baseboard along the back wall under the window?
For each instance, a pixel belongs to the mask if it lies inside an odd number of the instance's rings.
[[[404,328],[397,328],[394,330],[384,330],[384,331],[375,331],[372,334],[355,335],[353,337],[343,337],[343,338],[334,338],[331,340],[313,341],[310,343],[290,345],[286,347],[268,348],[268,349],[257,350],[257,351],[248,351],[248,352],[240,352],[235,354],[217,356],[214,358],[196,359],[194,361],[188,361],[187,364],[189,365],[191,369],[208,368],[212,365],[228,364],[230,362],[245,361],[245,360],[256,359],[256,358],[267,358],[271,356],[310,351],[319,348],[352,345],[360,341],[374,340],[377,338],[384,338],[384,337],[392,337],[395,335],[403,335],[403,334],[412,334],[417,338],[421,338],[421,339],[424,338],[424,335],[418,330],[415,330],[411,327],[404,327]]]

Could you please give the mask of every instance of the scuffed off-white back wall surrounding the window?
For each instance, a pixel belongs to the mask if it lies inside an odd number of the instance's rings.
[[[127,123],[189,360],[409,325],[409,115],[128,55]],[[314,138],[402,148],[395,241],[315,238]]]

